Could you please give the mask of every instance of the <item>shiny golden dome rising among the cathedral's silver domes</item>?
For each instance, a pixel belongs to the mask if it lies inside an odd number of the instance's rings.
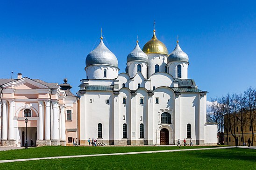
[[[154,30],[154,34],[151,40],[149,40],[144,47],[142,48],[142,51],[146,54],[149,53],[158,53],[158,54],[166,54],[168,55],[168,50],[163,42],[159,41],[156,38],[156,30]]]

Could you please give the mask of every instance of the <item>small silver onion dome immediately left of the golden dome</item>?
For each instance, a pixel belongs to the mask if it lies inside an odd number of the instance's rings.
[[[148,55],[142,51],[142,49],[139,46],[139,41],[137,41],[135,48],[127,56],[127,62],[129,62],[129,61],[146,61],[146,62],[148,62],[148,60],[149,60]]]

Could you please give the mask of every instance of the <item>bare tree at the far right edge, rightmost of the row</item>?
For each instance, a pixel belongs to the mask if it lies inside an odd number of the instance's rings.
[[[247,90],[244,91],[244,95],[245,95],[245,104],[246,104],[246,108],[247,110],[247,114],[248,114],[248,118],[249,118],[249,125],[250,125],[250,129],[252,132],[252,139],[251,139],[251,145],[253,146],[253,141],[254,141],[254,122],[256,120],[256,89],[249,87]]]

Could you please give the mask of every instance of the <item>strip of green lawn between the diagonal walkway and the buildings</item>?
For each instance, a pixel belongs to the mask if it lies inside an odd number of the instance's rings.
[[[44,146],[32,147],[28,150],[7,150],[0,151],[0,160],[8,159],[26,159],[36,157],[52,157],[52,156],[70,156],[70,155],[91,155],[91,154],[107,154],[107,153],[122,153],[122,152],[140,152],[151,150],[183,150],[194,148],[210,148],[210,147],[181,147],[178,146],[110,146],[110,147],[64,147],[64,146]]]

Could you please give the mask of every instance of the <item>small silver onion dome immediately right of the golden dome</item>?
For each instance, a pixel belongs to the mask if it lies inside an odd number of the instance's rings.
[[[184,51],[182,51],[182,49],[179,47],[178,41],[177,41],[176,48],[168,56],[167,61],[168,62],[171,62],[171,61],[186,61],[186,62],[188,62],[188,55]]]

